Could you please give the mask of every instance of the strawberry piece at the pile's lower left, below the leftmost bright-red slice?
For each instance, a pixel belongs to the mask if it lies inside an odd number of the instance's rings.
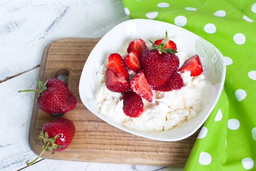
[[[129,82],[122,74],[116,75],[111,69],[106,70],[106,86],[108,90],[116,93],[123,93],[129,90]]]

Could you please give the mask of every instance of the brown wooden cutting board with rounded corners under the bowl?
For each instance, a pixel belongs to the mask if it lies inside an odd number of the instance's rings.
[[[76,96],[77,105],[74,110],[54,117],[39,109],[38,104],[34,104],[29,129],[29,145],[32,150],[40,154],[41,144],[38,135],[46,122],[67,118],[76,126],[71,145],[54,155],[47,151],[43,154],[43,158],[184,167],[199,130],[192,136],[176,142],[146,139],[113,127],[84,107],[79,98],[79,80],[84,63],[99,40],[67,38],[53,41],[45,47],[38,78],[44,82],[47,78],[68,74],[67,86]]]

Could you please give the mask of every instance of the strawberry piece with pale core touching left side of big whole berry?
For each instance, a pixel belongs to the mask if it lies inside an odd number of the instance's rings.
[[[131,51],[124,58],[124,63],[127,68],[134,72],[139,72],[141,69],[141,53],[137,50]]]

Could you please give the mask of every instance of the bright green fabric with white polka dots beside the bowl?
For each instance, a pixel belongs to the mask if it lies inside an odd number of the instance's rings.
[[[185,171],[244,171],[248,168],[255,171],[256,23],[253,21],[256,21],[256,0],[122,0],[122,3],[131,19],[149,16],[153,20],[185,24],[183,28],[206,39],[224,55],[227,65],[224,90],[204,124],[207,134],[204,137],[201,132],[204,138],[195,142]],[[161,8],[159,3],[169,6]],[[224,13],[217,12],[219,10]],[[149,12],[155,13],[148,15]],[[216,16],[215,12],[222,15]],[[180,15],[186,20],[177,17]],[[208,23],[212,23],[216,31]]]

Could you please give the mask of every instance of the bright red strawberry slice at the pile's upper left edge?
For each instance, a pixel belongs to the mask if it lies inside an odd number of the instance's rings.
[[[128,71],[125,67],[124,60],[118,53],[112,53],[108,57],[108,63],[106,66],[115,72],[117,75],[122,74],[126,80],[129,78]]]

